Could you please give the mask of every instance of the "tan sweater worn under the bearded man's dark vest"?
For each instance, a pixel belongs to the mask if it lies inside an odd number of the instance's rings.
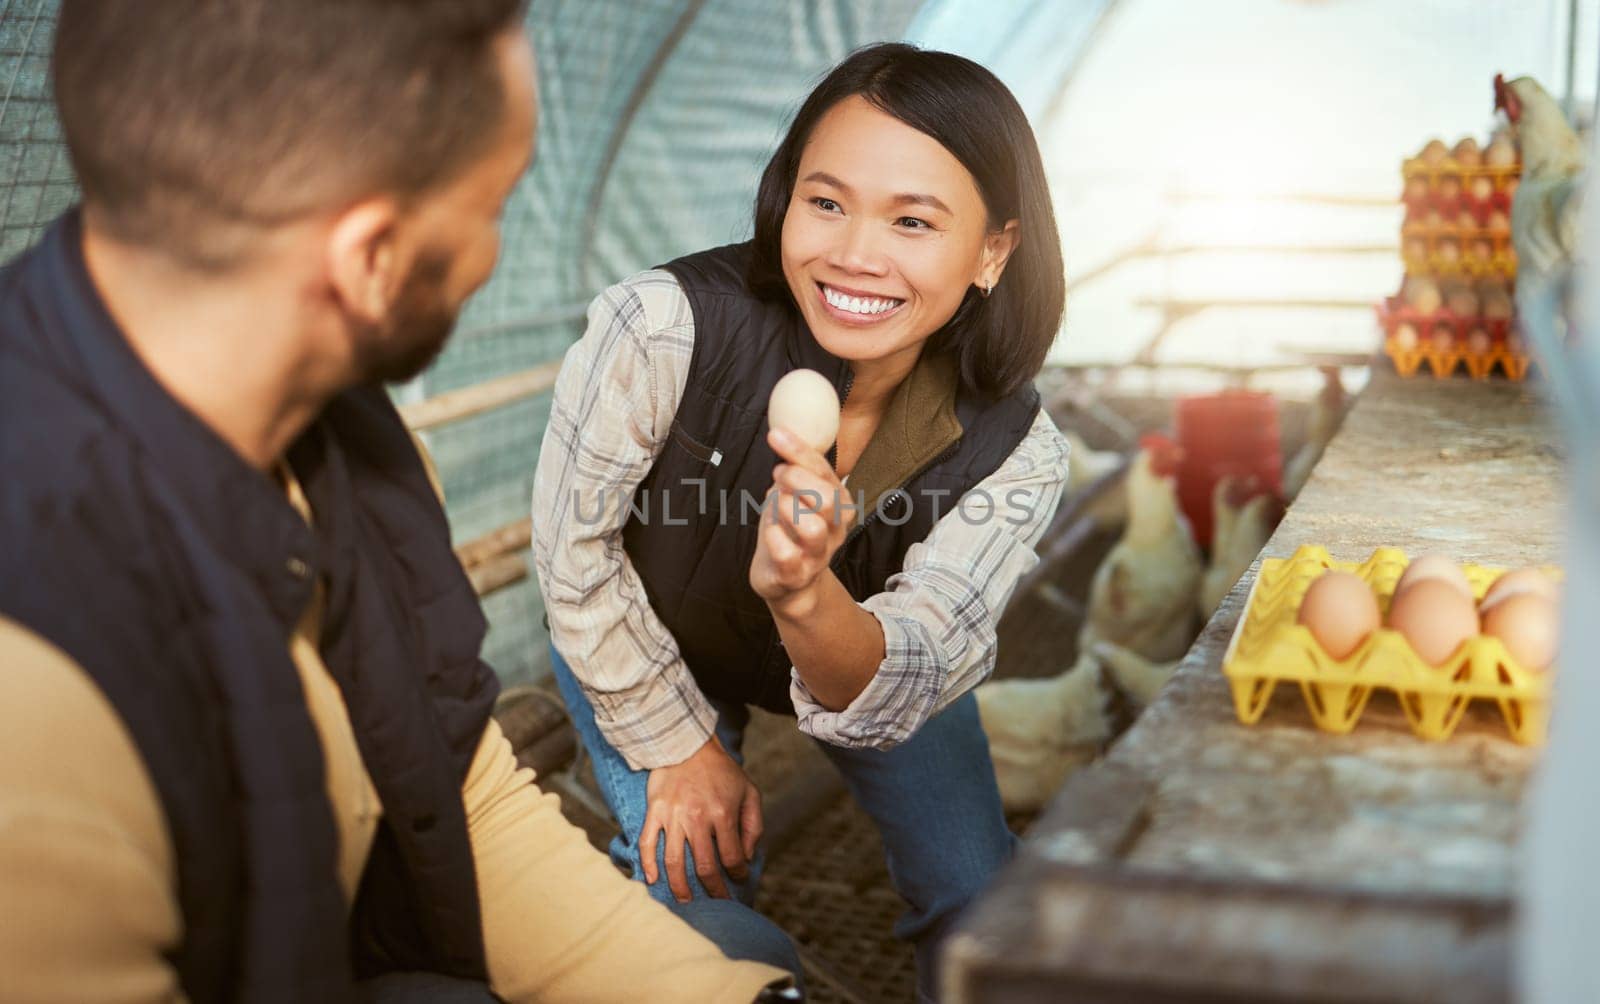
[[[290,496],[309,516],[293,483]],[[317,651],[320,606],[318,595],[288,643],[322,737],[350,902],[382,806]],[[784,975],[725,959],[619,875],[493,721],[462,801],[504,999],[752,1001]],[[181,938],[173,846],[133,739],[78,665],[0,619],[0,998],[181,1001],[163,958]]]

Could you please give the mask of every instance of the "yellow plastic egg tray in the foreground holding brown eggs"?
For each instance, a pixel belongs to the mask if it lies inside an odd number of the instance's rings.
[[[1424,662],[1400,631],[1378,628],[1346,659],[1333,659],[1296,622],[1301,600],[1314,579],[1328,569],[1360,576],[1387,619],[1395,582],[1405,571],[1405,552],[1381,547],[1360,563],[1334,561],[1322,547],[1306,545],[1293,558],[1264,558],[1245,616],[1222,657],[1222,673],[1234,692],[1234,711],[1256,724],[1280,683],[1299,684],[1312,721],[1325,732],[1347,734],[1360,721],[1374,691],[1392,691],[1411,731],[1443,740],[1456,731],[1467,705],[1499,705],[1510,737],[1544,742],[1549,723],[1550,673],[1520,667],[1499,638],[1469,638],[1443,665]],[[1504,569],[1466,564],[1475,600]],[[1558,577],[1560,572],[1554,572]]]

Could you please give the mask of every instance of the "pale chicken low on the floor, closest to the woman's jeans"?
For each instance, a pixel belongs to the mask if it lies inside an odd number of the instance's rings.
[[[1059,676],[992,679],[974,694],[1008,812],[1042,809],[1114,735],[1112,695],[1088,654]]]

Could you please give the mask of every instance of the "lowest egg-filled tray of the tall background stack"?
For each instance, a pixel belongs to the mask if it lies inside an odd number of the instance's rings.
[[[1509,379],[1522,380],[1533,361],[1517,325],[1507,318],[1461,317],[1446,307],[1422,313],[1402,297],[1390,296],[1378,305],[1378,325],[1384,329],[1384,355],[1394,360],[1395,371],[1403,377],[1416,376],[1427,363],[1442,380],[1461,366],[1477,380],[1490,379],[1496,368]],[[1398,334],[1406,325],[1416,333],[1414,345]],[[1440,328],[1450,331],[1448,345],[1435,339]],[[1486,347],[1475,344],[1474,331],[1488,334]]]

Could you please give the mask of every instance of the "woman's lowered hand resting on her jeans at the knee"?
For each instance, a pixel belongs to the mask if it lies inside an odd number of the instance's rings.
[[[762,839],[762,793],[717,737],[688,759],[650,772],[645,787],[650,807],[645,828],[638,835],[638,857],[645,881],[651,886],[656,873],[656,841],[666,833],[667,887],[680,903],[690,902],[688,862],[683,844],[694,855],[694,875],[706,892],[728,897],[717,863],[736,881],[749,875],[750,859]]]

